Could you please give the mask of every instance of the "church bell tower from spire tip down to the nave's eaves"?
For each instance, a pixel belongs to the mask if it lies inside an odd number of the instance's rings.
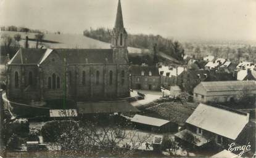
[[[111,48],[114,50],[114,60],[116,63],[128,63],[127,38],[128,34],[123,27],[121,2],[118,0],[115,27],[111,34]]]

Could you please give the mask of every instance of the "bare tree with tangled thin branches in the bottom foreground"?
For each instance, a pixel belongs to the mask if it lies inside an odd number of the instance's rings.
[[[70,122],[71,123],[71,122]],[[58,124],[64,125],[64,124]],[[126,125],[101,125],[95,122],[80,122],[78,128],[65,124],[52,146],[59,146],[60,152],[69,156],[131,156],[142,143],[149,141],[151,134],[139,135],[128,130]],[[54,129],[56,130],[56,129]]]

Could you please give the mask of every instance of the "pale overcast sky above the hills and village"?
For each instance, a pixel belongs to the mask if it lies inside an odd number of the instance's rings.
[[[117,0],[0,0],[1,25],[82,33],[114,26]],[[128,33],[256,41],[256,0],[122,0]]]

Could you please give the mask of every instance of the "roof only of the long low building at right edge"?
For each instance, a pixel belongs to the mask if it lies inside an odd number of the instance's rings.
[[[233,91],[233,90],[256,90],[255,81],[213,81],[200,82],[207,92]]]

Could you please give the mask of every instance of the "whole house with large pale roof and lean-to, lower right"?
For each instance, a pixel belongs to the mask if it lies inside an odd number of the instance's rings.
[[[239,142],[248,123],[249,113],[200,103],[186,120],[186,128],[175,137],[199,148],[209,146],[213,150],[213,145],[226,148],[230,143]]]

